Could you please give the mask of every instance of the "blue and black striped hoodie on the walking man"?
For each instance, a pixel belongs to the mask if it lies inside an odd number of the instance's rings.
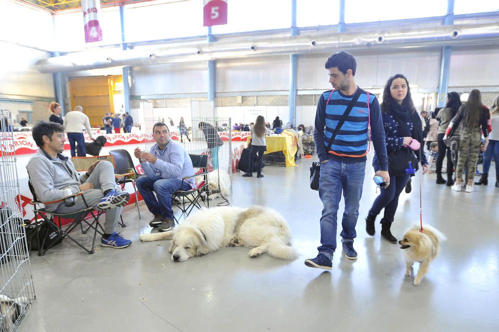
[[[357,87],[357,89],[360,88]],[[317,103],[315,114],[314,142],[319,161],[323,162],[327,159],[334,159],[343,163],[365,161],[366,157],[363,155],[365,155],[368,148],[367,124],[369,120],[367,114],[367,92],[361,90],[359,99],[336,135],[330,151],[326,151],[329,140],[339,120],[353,98],[353,95],[347,96],[336,90],[331,94],[331,98],[327,102],[330,93],[331,90],[322,93]],[[378,99],[373,94],[369,95],[369,109],[371,117],[371,139],[374,150],[378,157],[380,169],[388,170],[385,130],[383,128]]]

